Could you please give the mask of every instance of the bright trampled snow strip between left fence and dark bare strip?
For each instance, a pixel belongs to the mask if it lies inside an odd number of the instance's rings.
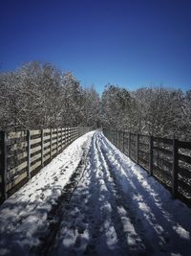
[[[29,255],[48,229],[48,213],[90,147],[94,132],[76,139],[0,206],[0,255]]]

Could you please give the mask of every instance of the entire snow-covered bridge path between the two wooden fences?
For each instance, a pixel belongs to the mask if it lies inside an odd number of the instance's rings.
[[[191,255],[191,209],[89,132],[0,207],[0,255]]]

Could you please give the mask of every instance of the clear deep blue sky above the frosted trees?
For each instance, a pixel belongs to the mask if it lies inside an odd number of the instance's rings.
[[[98,91],[191,89],[191,0],[0,0],[0,71],[31,60]]]

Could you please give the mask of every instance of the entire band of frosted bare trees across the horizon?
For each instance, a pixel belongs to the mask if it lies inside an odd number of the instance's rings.
[[[0,74],[0,129],[104,126],[143,134],[191,139],[191,90],[108,84],[102,95],[72,73],[31,62]]]

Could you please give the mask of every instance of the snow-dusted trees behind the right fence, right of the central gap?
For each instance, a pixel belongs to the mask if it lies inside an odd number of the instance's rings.
[[[191,139],[191,90],[140,88],[128,92],[110,85],[102,95],[107,127],[159,137]]]

